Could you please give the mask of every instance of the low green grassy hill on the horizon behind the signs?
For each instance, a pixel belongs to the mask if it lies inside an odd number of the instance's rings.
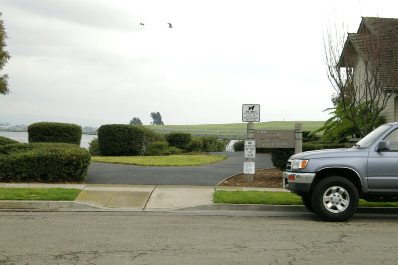
[[[294,130],[295,123],[302,123],[303,131],[313,131],[323,126],[325,121],[267,121],[255,122],[254,129]],[[218,138],[245,139],[247,123],[206,124],[206,125],[145,125],[159,133],[189,132],[196,136],[215,135]]]

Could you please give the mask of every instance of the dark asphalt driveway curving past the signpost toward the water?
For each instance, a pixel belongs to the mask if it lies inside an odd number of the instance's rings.
[[[144,167],[107,163],[91,163],[89,184],[144,184],[144,185],[198,185],[212,186],[226,177],[243,171],[242,152],[218,152],[228,159],[197,167]],[[271,168],[271,156],[256,155],[256,169]]]

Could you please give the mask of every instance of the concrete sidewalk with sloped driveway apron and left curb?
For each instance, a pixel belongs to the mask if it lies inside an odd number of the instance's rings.
[[[75,201],[0,201],[0,209],[173,211],[213,204],[215,190],[286,191],[283,188],[225,186],[130,185],[130,184],[41,184],[0,183],[15,188],[78,188]],[[207,205],[207,206],[206,206]],[[203,209],[204,209],[203,208]]]

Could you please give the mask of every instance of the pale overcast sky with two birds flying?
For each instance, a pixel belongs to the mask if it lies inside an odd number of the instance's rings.
[[[0,0],[12,58],[0,123],[100,126],[326,120],[327,23],[397,18],[398,1]],[[144,26],[140,23],[145,23]],[[173,28],[168,28],[172,23]]]

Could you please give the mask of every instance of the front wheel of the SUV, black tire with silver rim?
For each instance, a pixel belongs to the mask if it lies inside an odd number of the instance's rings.
[[[345,221],[357,210],[359,195],[350,180],[331,176],[316,184],[311,202],[315,213],[324,220]]]

